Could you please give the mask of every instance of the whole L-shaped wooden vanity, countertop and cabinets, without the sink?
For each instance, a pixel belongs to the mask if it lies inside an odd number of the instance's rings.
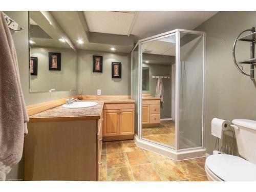
[[[25,180],[98,181],[103,134],[106,140],[133,139],[133,100],[86,101],[98,104],[81,109],[60,105],[30,116]]]

